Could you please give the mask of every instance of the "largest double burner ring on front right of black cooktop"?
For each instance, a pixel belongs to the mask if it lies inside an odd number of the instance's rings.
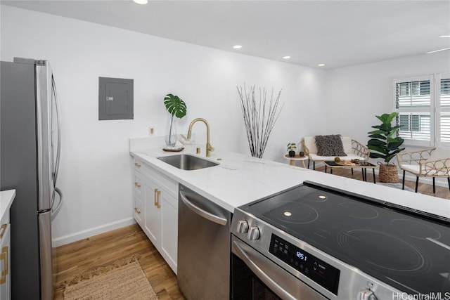
[[[342,230],[338,235],[338,244],[354,258],[394,273],[413,275],[426,273],[431,268],[430,261],[413,244],[378,230]],[[386,244],[390,247],[385,247]],[[362,249],[358,249],[361,246]],[[402,255],[392,256],[391,248],[400,250]]]

